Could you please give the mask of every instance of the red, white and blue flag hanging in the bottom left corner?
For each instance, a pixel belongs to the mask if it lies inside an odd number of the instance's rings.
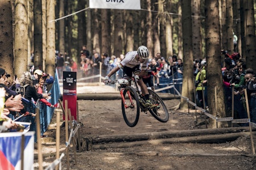
[[[22,134],[0,133],[0,170],[21,169]],[[24,134],[23,153],[23,169],[34,169],[34,131]]]

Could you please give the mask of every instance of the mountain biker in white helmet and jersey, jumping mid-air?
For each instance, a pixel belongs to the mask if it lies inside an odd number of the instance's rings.
[[[135,80],[141,87],[142,95],[146,99],[145,106],[151,107],[152,103],[149,100],[149,93],[146,84],[143,83],[142,76],[146,74],[147,70],[147,59],[149,51],[146,46],[139,46],[137,51],[128,52],[125,58],[118,64],[117,67],[112,69],[108,75],[106,75],[104,83],[109,83],[109,77],[112,76],[119,69],[123,68],[123,78],[130,78],[134,74]],[[141,66],[142,63],[142,66]]]

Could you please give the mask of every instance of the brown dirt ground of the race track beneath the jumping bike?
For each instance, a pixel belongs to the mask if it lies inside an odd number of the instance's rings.
[[[93,88],[95,89],[95,87]],[[92,90],[91,90],[92,91]],[[99,92],[100,90],[98,90]],[[100,95],[100,94],[97,94]],[[170,120],[159,122],[150,113],[141,113],[134,128],[125,124],[121,111],[121,100],[78,100],[79,135],[92,139],[88,150],[73,152],[69,147],[69,169],[254,169],[250,134],[226,142],[191,142],[188,136],[161,137],[162,134],[183,133],[205,129],[205,116],[199,111],[174,111],[179,99],[164,100],[170,111]],[[56,111],[62,110],[56,109]],[[198,121],[196,121],[198,120]],[[65,127],[60,129],[60,152],[65,152]],[[42,138],[43,166],[55,160],[56,114],[49,130]],[[151,138],[137,141],[135,137]],[[204,135],[201,135],[202,137]],[[209,135],[205,135],[209,137]],[[123,137],[123,141],[111,141]],[[200,138],[195,137],[195,138]],[[100,139],[105,142],[93,142]],[[109,139],[109,140],[108,140]],[[255,142],[255,139],[254,139]],[[38,150],[35,150],[35,169],[38,169]],[[67,169],[67,155],[61,160],[62,169]]]

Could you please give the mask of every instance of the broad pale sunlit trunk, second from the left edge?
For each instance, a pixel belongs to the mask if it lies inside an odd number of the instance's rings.
[[[24,71],[27,71],[27,27],[27,1],[17,0],[15,1],[14,67],[15,73],[18,77],[20,77]]]

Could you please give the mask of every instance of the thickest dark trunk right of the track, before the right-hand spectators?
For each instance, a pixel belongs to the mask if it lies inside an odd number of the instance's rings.
[[[209,113],[216,117],[226,117],[224,90],[221,86],[220,20],[216,0],[205,0],[205,39]],[[217,96],[214,95],[215,88]],[[221,122],[218,126],[227,126],[227,123]],[[212,118],[210,118],[209,128],[216,128],[216,121]]]

